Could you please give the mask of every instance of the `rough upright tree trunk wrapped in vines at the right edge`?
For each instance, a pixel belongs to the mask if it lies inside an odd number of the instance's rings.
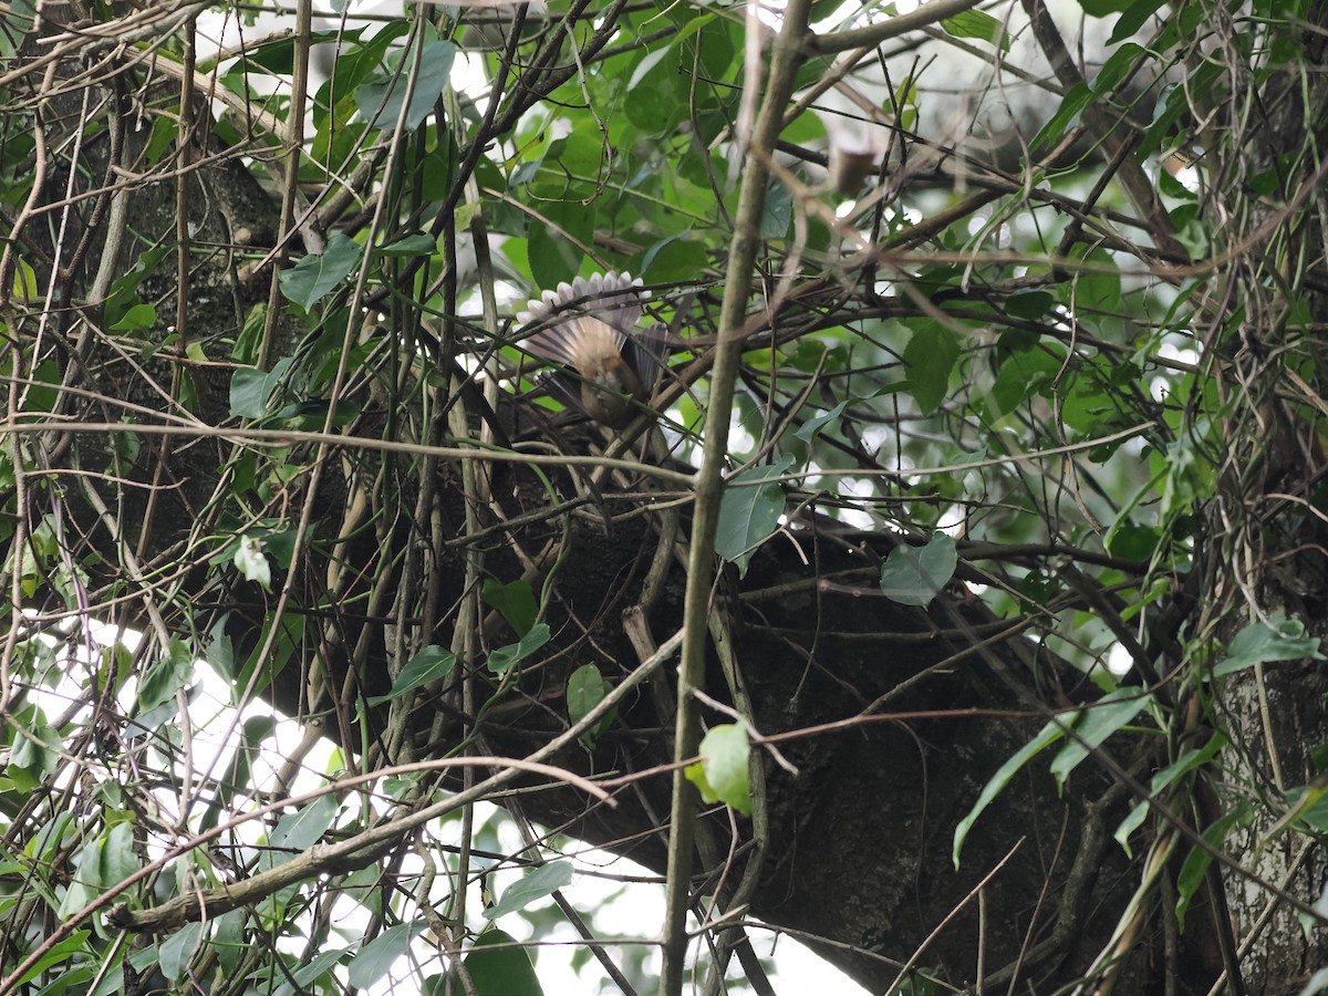
[[[1230,377],[1247,400],[1226,426],[1231,456],[1208,515],[1211,556],[1231,568],[1210,567],[1206,618],[1227,610],[1218,628],[1227,641],[1247,623],[1279,618],[1305,620],[1311,635],[1328,636],[1328,533],[1321,514],[1303,514],[1321,501],[1325,465],[1316,438],[1324,352],[1317,335],[1303,337],[1305,329],[1321,329],[1328,321],[1324,167],[1321,153],[1311,151],[1328,135],[1325,25],[1328,8],[1308,5],[1305,24],[1284,40],[1297,57],[1268,72],[1256,104],[1234,101],[1222,108],[1206,135],[1224,153],[1214,191],[1215,210],[1231,219],[1223,232],[1223,247],[1231,252],[1223,279],[1236,288],[1234,303],[1246,312],[1230,332]],[[1252,85],[1248,69],[1235,65],[1230,72],[1234,93],[1242,93],[1240,84]],[[1275,177],[1280,193],[1251,202],[1246,191],[1260,175]],[[1278,234],[1272,246],[1268,232]],[[1272,288],[1266,278],[1279,267],[1287,282]],[[1296,308],[1303,308],[1299,316],[1292,315]],[[1319,373],[1308,384],[1286,378],[1286,367],[1270,363],[1283,351],[1292,357],[1304,351]],[[1299,992],[1324,965],[1323,924],[1297,916],[1286,896],[1321,903],[1328,859],[1316,841],[1286,833],[1279,817],[1288,802],[1323,781],[1325,696],[1323,661],[1309,660],[1246,672],[1218,700],[1220,720],[1232,734],[1223,801],[1227,806],[1250,798],[1268,802],[1252,807],[1254,818],[1227,847],[1282,890],[1270,894],[1240,872],[1224,874],[1248,992]]]

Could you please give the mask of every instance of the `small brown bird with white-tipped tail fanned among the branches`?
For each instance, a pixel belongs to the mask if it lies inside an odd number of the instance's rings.
[[[664,368],[664,336],[636,327],[640,283],[631,274],[578,276],[517,315],[518,324],[538,325],[522,343],[527,352],[575,371],[544,377],[550,393],[611,429],[632,421]]]

